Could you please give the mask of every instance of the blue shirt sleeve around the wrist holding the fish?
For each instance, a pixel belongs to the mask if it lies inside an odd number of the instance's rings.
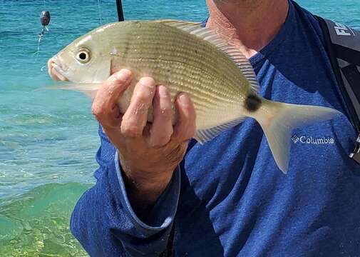
[[[166,250],[178,207],[180,168],[141,221],[128,200],[118,154],[102,129],[99,134],[97,182],[76,204],[71,231],[91,256],[159,256]]]

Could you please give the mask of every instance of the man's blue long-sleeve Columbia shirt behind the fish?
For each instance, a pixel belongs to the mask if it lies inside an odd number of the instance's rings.
[[[346,114],[319,24],[294,2],[250,61],[265,98]],[[360,256],[360,166],[349,158],[356,133],[345,115],[293,131],[286,176],[253,119],[204,145],[191,141],[143,221],[115,148],[99,133],[97,183],[71,217],[91,256],[158,256],[172,228],[175,256]]]

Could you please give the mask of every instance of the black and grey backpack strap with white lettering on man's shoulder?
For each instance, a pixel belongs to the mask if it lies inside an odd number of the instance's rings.
[[[360,163],[360,31],[319,16],[316,18],[324,34],[324,46],[349,120],[359,133],[356,148],[350,157]]]

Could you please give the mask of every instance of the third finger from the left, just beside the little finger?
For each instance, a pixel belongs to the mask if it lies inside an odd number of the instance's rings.
[[[150,146],[164,146],[173,134],[171,96],[165,86],[158,86],[153,101],[153,126],[150,129]]]

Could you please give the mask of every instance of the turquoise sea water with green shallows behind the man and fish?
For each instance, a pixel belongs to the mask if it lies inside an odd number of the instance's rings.
[[[299,4],[360,29],[359,0]],[[86,256],[68,231],[73,205],[92,183],[98,148],[91,102],[53,84],[46,60],[71,40],[115,21],[115,0],[0,0],[0,256]],[[38,48],[38,15],[51,12]],[[206,16],[205,0],[124,0],[125,19]]]

